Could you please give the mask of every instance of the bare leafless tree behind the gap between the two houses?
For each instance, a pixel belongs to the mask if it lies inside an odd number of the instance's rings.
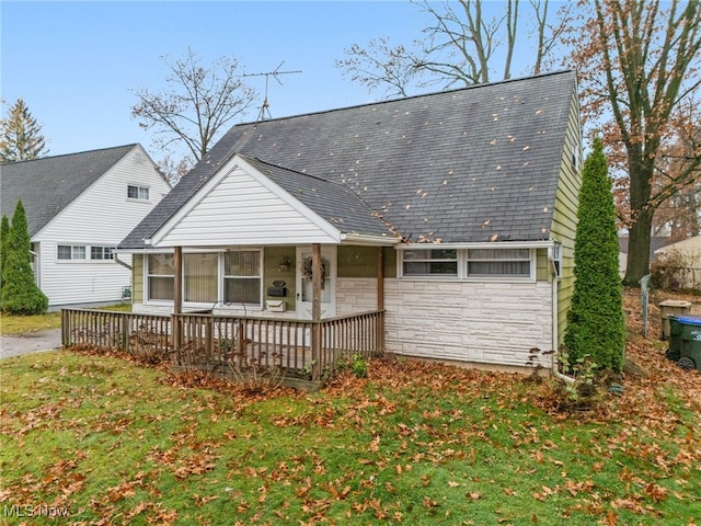
[[[231,121],[242,116],[252,106],[255,92],[248,88],[238,73],[238,61],[227,57],[203,66],[192,49],[184,58],[163,61],[170,68],[165,77],[168,89],[152,92],[135,90],[138,102],[131,106],[131,116],[143,129],[152,129],[157,147],[166,153],[161,170],[169,179],[179,179],[177,167],[191,167],[209,150]],[[187,155],[183,161],[173,161],[169,147],[184,145]]]

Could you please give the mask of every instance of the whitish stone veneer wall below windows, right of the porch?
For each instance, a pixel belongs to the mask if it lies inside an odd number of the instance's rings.
[[[388,352],[525,367],[552,351],[552,285],[386,279]],[[551,355],[540,357],[551,367]]]

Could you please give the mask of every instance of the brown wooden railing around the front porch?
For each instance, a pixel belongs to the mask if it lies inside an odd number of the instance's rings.
[[[383,352],[384,311],[321,321],[173,316],[64,309],[62,343],[161,355],[184,367],[227,374],[230,368],[278,368],[312,380],[332,374],[342,359]]]

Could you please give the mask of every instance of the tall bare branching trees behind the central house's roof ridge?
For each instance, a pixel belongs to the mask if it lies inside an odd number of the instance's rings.
[[[519,28],[527,28],[536,38],[535,54],[532,62],[519,62],[521,68],[526,67],[519,73],[539,75],[563,31],[562,23],[558,23],[563,18],[549,23],[549,3],[530,0],[530,10],[525,14],[519,11],[518,0],[498,4],[482,0],[445,3],[424,0],[420,5],[430,21],[423,30],[424,38],[414,41],[412,46],[392,47],[382,37],[370,41],[367,47],[355,44],[345,50],[346,58],[335,65],[352,81],[369,90],[386,88],[390,96],[405,96],[413,88],[434,83],[449,87],[456,82],[473,85],[506,80],[512,78],[514,53],[521,42]],[[564,12],[567,9],[565,5]]]

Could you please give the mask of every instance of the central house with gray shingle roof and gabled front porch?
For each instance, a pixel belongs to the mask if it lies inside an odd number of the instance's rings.
[[[576,77],[233,126],[119,243],[134,309],[379,309],[389,352],[551,367],[573,287]]]

